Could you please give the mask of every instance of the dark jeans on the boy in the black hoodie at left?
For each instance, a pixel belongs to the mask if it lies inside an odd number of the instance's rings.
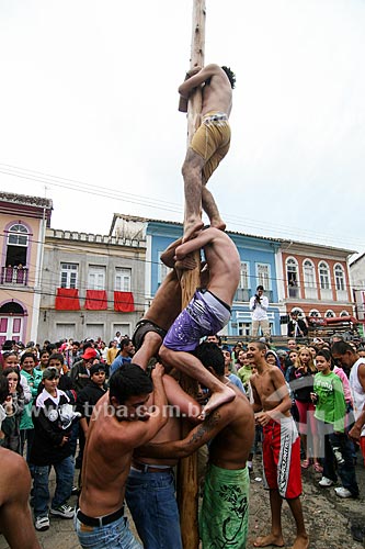
[[[71,495],[73,484],[75,461],[69,456],[58,463],[53,463],[56,471],[56,491],[52,507],[57,508]],[[48,479],[50,466],[33,466],[33,506],[34,516],[48,516],[49,488]]]

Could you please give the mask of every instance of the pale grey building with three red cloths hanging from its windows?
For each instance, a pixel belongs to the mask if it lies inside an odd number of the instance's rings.
[[[145,309],[146,238],[46,232],[38,341],[130,335]]]

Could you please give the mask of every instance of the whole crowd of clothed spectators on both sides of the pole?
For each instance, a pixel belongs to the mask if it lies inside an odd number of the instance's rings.
[[[252,401],[250,377],[255,370],[246,345],[221,345],[217,337],[215,343],[224,352],[226,376]],[[340,350],[337,358],[333,349]],[[282,370],[290,391],[292,414],[301,439],[301,468],[319,473],[320,479],[313,480],[322,489],[330,488],[339,477],[342,485],[335,493],[340,497],[358,496],[354,463],[360,459],[360,449],[365,463],[364,437],[361,448],[349,437],[354,405],[351,368],[346,360],[341,361],[341,352],[349,349],[357,358],[365,357],[360,343],[345,343],[341,336],[329,341],[317,338],[306,345],[289,338],[280,348],[266,343],[265,357]],[[68,500],[81,488],[81,474],[78,485],[73,485],[75,468],[81,472],[92,410],[107,390],[109,377],[132,360],[134,350],[129,336],[119,333],[107,347],[101,338],[46,340],[42,346],[8,340],[2,345],[0,369],[9,394],[0,403],[0,445],[26,459],[33,478],[36,529],[49,528],[49,516],[73,517]],[[255,429],[248,462],[251,471],[262,439],[261,427]],[[57,482],[50,501],[52,467]]]

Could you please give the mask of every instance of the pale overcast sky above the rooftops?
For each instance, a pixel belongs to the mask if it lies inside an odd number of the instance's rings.
[[[1,0],[0,191],[52,226],[182,221],[193,0]],[[364,251],[365,2],[206,0],[205,63],[237,74],[213,176],[228,228]]]

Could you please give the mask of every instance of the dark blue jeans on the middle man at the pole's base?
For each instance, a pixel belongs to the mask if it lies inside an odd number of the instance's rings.
[[[130,469],[125,498],[145,549],[182,549],[172,471]]]

